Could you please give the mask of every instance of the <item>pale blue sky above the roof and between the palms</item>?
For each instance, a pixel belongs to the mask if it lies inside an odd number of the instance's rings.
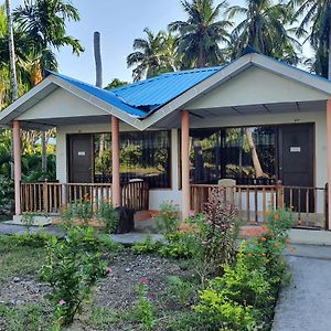
[[[132,52],[135,38],[145,36],[143,29],[167,29],[168,23],[185,20],[180,0],[72,0],[81,13],[79,22],[67,24],[67,33],[77,38],[85,52],[77,57],[70,47],[57,54],[58,71],[77,79],[95,84],[93,34],[102,34],[104,85],[113,78],[131,82],[132,70],[126,56]],[[216,1],[217,2],[217,1]],[[228,4],[243,6],[245,0],[229,0]],[[12,0],[12,7],[23,0]]]

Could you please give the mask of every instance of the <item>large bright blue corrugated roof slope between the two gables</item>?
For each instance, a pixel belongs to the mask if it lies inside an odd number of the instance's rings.
[[[177,98],[222,67],[204,67],[191,71],[173,72],[111,89],[118,97],[134,107],[159,108]]]

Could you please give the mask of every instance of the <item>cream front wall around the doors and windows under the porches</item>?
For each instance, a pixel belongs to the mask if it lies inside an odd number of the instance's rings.
[[[231,126],[256,126],[256,125],[280,125],[280,124],[314,124],[314,185],[323,188],[327,183],[327,124],[325,113],[291,113],[291,114],[268,114],[232,117],[211,117],[193,121],[192,128],[206,127],[231,127]],[[134,130],[128,125],[121,124],[120,130]],[[66,160],[66,135],[88,134],[88,132],[109,132],[109,125],[76,125],[65,126],[57,129],[57,154],[56,154],[56,175],[60,182],[66,182],[67,160]],[[178,129],[171,130],[171,189],[150,191],[150,210],[158,210],[164,201],[173,201],[181,207],[181,191],[179,190],[179,139]],[[254,200],[250,199],[252,203]],[[322,199],[320,199],[322,209]]]

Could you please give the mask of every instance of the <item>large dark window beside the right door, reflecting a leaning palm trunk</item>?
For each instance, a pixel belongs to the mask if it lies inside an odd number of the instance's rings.
[[[192,129],[191,181],[269,184],[276,179],[276,127]]]

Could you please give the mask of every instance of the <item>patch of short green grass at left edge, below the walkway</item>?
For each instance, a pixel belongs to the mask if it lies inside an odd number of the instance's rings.
[[[13,277],[35,275],[45,258],[44,248],[15,245],[11,237],[0,237],[0,284]]]

